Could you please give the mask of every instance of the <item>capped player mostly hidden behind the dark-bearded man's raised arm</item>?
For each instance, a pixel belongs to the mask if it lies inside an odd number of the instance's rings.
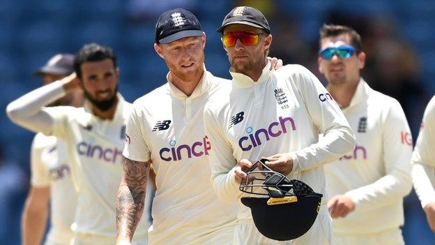
[[[56,54],[36,75],[43,77],[45,85],[50,84],[73,73],[73,61],[73,54]],[[51,105],[82,104],[83,92],[76,89]],[[49,213],[51,226],[44,244],[70,244],[76,205],[65,142],[38,133],[31,145],[31,187],[22,216],[22,244],[42,244]]]

